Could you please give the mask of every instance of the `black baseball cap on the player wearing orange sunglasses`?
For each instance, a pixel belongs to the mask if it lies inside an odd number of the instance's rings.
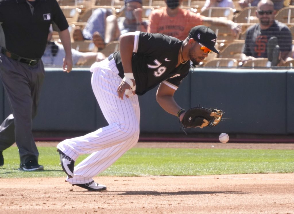
[[[198,25],[191,29],[188,38],[193,38],[198,43],[201,43],[206,48],[209,48],[215,53],[218,53],[218,50],[214,47],[216,44],[216,34],[209,27],[204,25]]]

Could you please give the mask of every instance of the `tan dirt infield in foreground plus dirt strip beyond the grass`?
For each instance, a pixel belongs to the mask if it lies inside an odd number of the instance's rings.
[[[49,146],[49,143],[40,143]],[[40,145],[39,144],[39,145]],[[55,145],[51,143],[50,146]],[[293,149],[293,144],[138,143],[137,147]],[[294,214],[294,174],[97,177],[84,191],[64,178],[0,179],[0,213]]]

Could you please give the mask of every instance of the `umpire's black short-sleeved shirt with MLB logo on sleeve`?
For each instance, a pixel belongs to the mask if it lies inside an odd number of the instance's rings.
[[[69,27],[56,0],[0,0],[0,45],[24,58],[41,58],[49,27]]]

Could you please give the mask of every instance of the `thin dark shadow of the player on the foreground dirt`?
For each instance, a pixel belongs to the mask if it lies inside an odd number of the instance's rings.
[[[157,191],[127,191],[127,192],[104,192],[117,195],[151,195],[151,196],[177,196],[177,195],[207,195],[207,194],[250,194],[249,192],[236,191],[178,191],[178,192],[157,192]]]

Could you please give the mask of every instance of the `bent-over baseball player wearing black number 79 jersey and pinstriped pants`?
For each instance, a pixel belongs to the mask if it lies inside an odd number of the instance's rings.
[[[183,118],[173,98],[194,65],[218,53],[215,33],[206,26],[191,29],[184,41],[160,33],[130,32],[120,36],[120,51],[94,63],[92,88],[108,126],[57,145],[66,181],[91,191],[106,190],[93,177],[111,166],[139,139],[140,109],[137,95],[156,87],[156,100],[168,113]],[[122,54],[123,53],[123,54]],[[90,154],[74,166],[78,156]]]

